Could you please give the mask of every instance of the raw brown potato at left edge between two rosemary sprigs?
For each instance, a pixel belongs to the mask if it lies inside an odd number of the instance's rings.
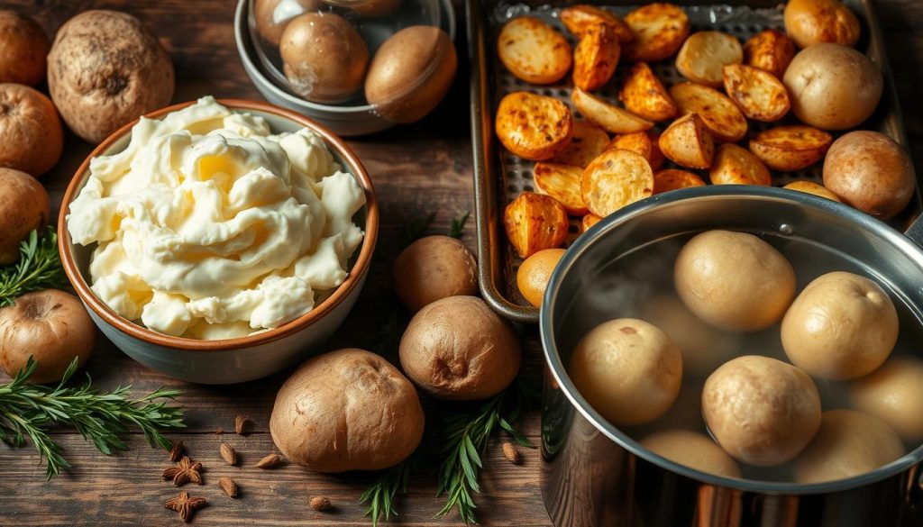
[[[30,382],[57,382],[75,357],[78,366],[87,362],[95,339],[96,326],[73,294],[35,291],[0,308],[0,367],[10,377],[31,356],[39,365]]]

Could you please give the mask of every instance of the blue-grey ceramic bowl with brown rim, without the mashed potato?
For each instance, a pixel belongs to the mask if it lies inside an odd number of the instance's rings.
[[[77,291],[80,300],[90,312],[90,317],[113,341],[115,346],[139,363],[161,371],[170,377],[203,384],[231,384],[244,382],[276,373],[303,360],[316,351],[340,327],[353,308],[366,281],[372,252],[378,237],[378,203],[366,169],[342,141],[326,127],[265,102],[219,100],[235,112],[259,115],[267,120],[274,133],[293,132],[307,127],[323,138],[333,157],[345,172],[354,175],[365,190],[366,205],[354,216],[354,222],[366,233],[362,246],[350,260],[346,280],[323,302],[302,317],[256,335],[222,341],[199,341],[164,335],[120,317],[90,290],[90,255],[94,245],[78,246],[71,242],[67,232],[66,215],[70,203],[77,197],[90,176],[90,159],[112,154],[126,148],[131,138],[131,127],[138,121],[122,126],[106,138],[80,165],[77,174],[67,187],[61,213],[58,217],[58,248],[67,278]],[[193,102],[176,104],[151,114],[159,118]]]

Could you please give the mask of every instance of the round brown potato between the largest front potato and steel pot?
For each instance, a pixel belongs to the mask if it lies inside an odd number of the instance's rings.
[[[427,305],[401,339],[407,377],[438,399],[497,395],[519,373],[520,361],[512,327],[474,296],[450,296]]]

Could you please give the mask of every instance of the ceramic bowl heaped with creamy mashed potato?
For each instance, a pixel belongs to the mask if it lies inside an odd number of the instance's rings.
[[[68,186],[61,259],[106,337],[228,384],[340,327],[378,234],[371,180],[325,127],[263,102],[178,104],[104,140]]]

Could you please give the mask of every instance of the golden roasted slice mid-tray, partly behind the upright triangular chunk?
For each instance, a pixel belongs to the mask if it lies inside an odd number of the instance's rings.
[[[670,96],[680,113],[699,114],[715,138],[735,143],[747,135],[747,118],[724,93],[701,84],[681,82],[670,88]]]

